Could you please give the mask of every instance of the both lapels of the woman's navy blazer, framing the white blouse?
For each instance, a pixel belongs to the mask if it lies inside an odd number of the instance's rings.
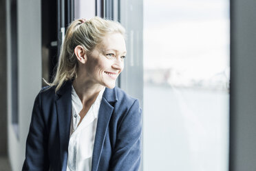
[[[60,137],[60,152],[61,152],[61,168],[65,170],[67,167],[68,143],[70,140],[70,122],[72,115],[72,81],[66,81],[63,86],[56,92],[56,110],[58,115],[58,130]],[[92,171],[98,170],[103,143],[105,141],[107,128],[111,119],[111,114],[114,111],[114,105],[118,101],[116,88],[105,88],[103,99],[100,103],[98,111],[98,123],[94,141],[94,151],[92,155]]]

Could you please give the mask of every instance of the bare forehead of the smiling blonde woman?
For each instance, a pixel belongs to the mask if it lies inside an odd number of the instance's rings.
[[[118,32],[106,34],[100,43],[100,48],[103,48],[103,50],[126,52],[125,39]]]

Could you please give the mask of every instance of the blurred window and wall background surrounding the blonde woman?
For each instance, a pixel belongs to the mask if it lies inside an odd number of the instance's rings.
[[[117,86],[140,100],[140,170],[256,170],[255,0],[0,0],[0,171],[21,170],[36,94],[74,19],[127,31]]]

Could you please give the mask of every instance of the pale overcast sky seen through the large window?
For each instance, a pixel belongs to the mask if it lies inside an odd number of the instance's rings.
[[[143,3],[145,70],[173,68],[188,79],[207,79],[229,70],[227,0]]]

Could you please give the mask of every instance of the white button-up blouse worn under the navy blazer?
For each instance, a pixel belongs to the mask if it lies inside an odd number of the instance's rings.
[[[98,97],[78,125],[81,119],[79,113],[83,109],[83,103],[72,86],[72,119],[70,123],[67,171],[92,170],[92,152],[94,150],[98,110],[100,109],[104,90],[105,88],[99,92]]]

